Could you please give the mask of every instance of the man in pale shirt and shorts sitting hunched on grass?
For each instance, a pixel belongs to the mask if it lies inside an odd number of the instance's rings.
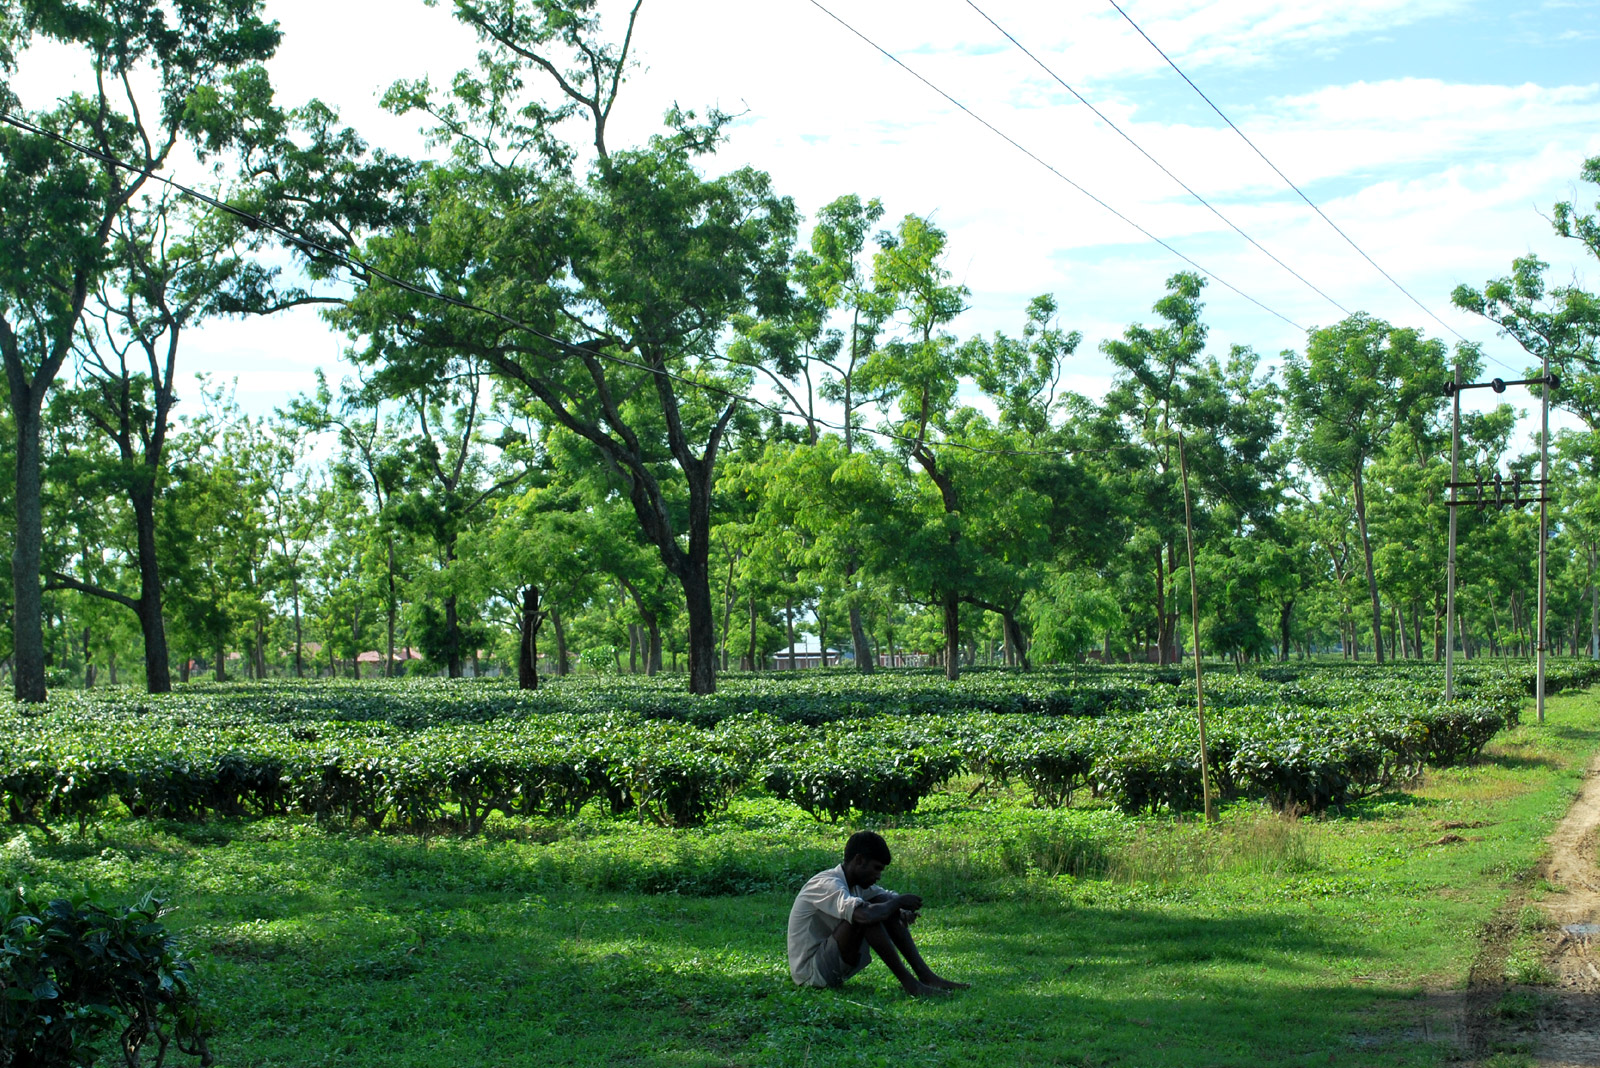
[[[845,843],[845,863],[800,887],[789,910],[789,975],[795,985],[838,986],[872,961],[872,946],[912,998],[968,986],[939,978],[922,959],[910,937],[922,899],[878,886],[886,867],[888,843],[874,831],[856,831]]]

